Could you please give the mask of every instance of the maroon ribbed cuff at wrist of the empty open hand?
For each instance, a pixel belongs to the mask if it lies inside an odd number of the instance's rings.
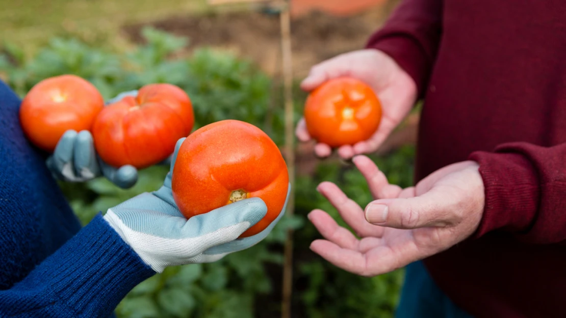
[[[537,173],[524,156],[476,151],[469,156],[479,164],[485,188],[485,207],[478,238],[493,230],[520,234],[530,228],[538,211]]]

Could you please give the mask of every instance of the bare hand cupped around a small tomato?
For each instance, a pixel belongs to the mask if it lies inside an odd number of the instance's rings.
[[[301,88],[311,92],[325,81],[341,76],[366,82],[378,95],[383,107],[379,128],[370,139],[338,148],[338,155],[342,159],[350,159],[354,155],[378,150],[413,108],[417,99],[417,85],[390,56],[379,50],[366,49],[341,54],[317,64],[311,68],[309,75],[301,83]],[[311,140],[305,119],[299,120],[295,134],[299,141]],[[324,143],[317,143],[315,153],[319,157],[327,157],[332,149]]]

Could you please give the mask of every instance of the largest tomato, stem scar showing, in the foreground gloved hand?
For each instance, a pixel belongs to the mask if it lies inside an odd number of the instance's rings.
[[[187,219],[241,199],[263,199],[267,215],[241,235],[248,237],[267,228],[280,214],[289,172],[267,134],[243,121],[222,120],[183,141],[171,186],[173,199]]]

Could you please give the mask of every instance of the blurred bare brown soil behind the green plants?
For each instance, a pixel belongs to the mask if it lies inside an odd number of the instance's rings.
[[[337,54],[361,49],[387,17],[396,0],[385,1],[360,14],[335,16],[320,11],[303,12],[291,24],[293,71],[297,78],[311,66]],[[144,24],[127,25],[126,35],[141,41],[145,25],[190,39],[199,46],[229,49],[252,59],[271,75],[280,71],[280,28],[277,15],[257,11],[216,12],[200,16],[175,16]]]

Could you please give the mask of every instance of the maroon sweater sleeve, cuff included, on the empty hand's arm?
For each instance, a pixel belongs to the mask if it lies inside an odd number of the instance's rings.
[[[504,230],[529,243],[566,240],[566,143],[506,143],[469,159],[479,163],[486,195],[474,237]]]

